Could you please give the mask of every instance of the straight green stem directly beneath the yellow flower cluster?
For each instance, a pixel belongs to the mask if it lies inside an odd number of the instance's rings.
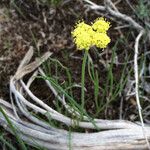
[[[88,56],[88,51],[86,50],[84,53],[84,58],[83,58],[83,62],[82,62],[82,75],[81,75],[81,106],[82,106],[82,109],[84,109],[84,104],[85,104],[84,84],[85,84],[85,66],[86,66],[87,56]]]

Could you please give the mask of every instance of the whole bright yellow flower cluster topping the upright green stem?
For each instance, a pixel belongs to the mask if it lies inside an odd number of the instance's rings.
[[[90,26],[86,23],[77,23],[72,36],[79,50],[89,50],[91,46],[105,48],[110,43],[110,38],[107,35],[107,30],[110,28],[110,23],[104,18],[98,18]]]

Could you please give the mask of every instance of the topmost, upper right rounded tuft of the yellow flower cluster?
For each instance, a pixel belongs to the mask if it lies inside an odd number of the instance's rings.
[[[105,21],[102,17],[97,18],[93,23],[92,28],[97,32],[106,33],[107,30],[110,28],[110,22]]]

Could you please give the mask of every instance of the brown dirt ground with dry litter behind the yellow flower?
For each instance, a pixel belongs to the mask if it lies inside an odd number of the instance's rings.
[[[96,2],[96,1],[95,1]],[[98,2],[98,1],[97,1]],[[80,82],[81,77],[81,64],[83,53],[77,51],[71,37],[71,31],[78,20],[84,19],[90,23],[100,14],[88,10],[85,5],[79,0],[72,0],[63,3],[59,6],[36,6],[33,2],[25,1],[24,4],[17,1],[16,5],[19,6],[20,11],[17,11],[15,6],[8,5],[9,2],[3,2],[0,8],[0,97],[9,101],[9,79],[13,75],[23,59],[26,52],[30,47],[34,48],[34,56],[43,54],[46,51],[53,52],[53,58],[58,59],[73,72],[73,81]],[[133,2],[134,3],[134,2]],[[130,13],[124,3],[118,6],[120,11]],[[129,34],[129,29],[114,30],[116,25],[115,21],[111,21],[112,27],[109,35],[111,37],[111,44],[105,50],[106,54],[103,55],[105,61],[110,60],[112,53],[111,48],[114,47],[118,37],[127,37],[130,43],[119,43],[117,48],[117,55],[120,62],[124,62],[124,56],[129,55],[129,60],[133,59],[134,35]],[[123,51],[126,50],[126,51]],[[97,56],[94,52],[90,51],[91,56],[98,63],[98,70],[101,74],[100,84],[103,86],[106,81],[106,68],[103,64],[99,63]],[[74,55],[75,57],[70,57]],[[64,59],[66,57],[66,59]],[[123,70],[123,67],[114,65],[113,74],[114,78],[118,79]],[[65,78],[65,77],[62,77]],[[86,80],[87,91],[86,94],[88,103],[86,108],[89,113],[94,113],[93,87],[91,82]],[[115,87],[114,87],[115,88]],[[35,86],[34,92],[40,97],[46,97],[46,90],[40,92],[39,88]],[[80,91],[74,91],[74,96],[79,97]],[[42,94],[41,94],[42,93]],[[121,98],[111,103],[105,113],[102,113],[100,118],[119,118],[118,112],[120,107]],[[123,111],[125,112],[124,118],[134,120],[134,114],[137,114],[134,96],[123,102]],[[137,119],[137,118],[136,118]]]

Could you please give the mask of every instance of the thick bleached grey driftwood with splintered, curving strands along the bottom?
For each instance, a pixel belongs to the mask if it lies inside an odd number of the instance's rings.
[[[33,116],[31,111],[41,113],[46,117],[49,113],[52,119],[68,126],[74,126],[74,124],[76,124],[81,128],[95,128],[95,126],[88,121],[87,117],[84,116],[83,121],[78,121],[60,114],[31,92],[30,85],[34,82],[34,77],[38,74],[44,75],[42,69],[39,68],[41,63],[52,55],[48,52],[41,58],[28,64],[32,54],[33,50],[30,49],[18,67],[17,73],[10,80],[10,93],[13,95],[11,97],[13,105],[0,99],[1,108],[7,114],[24,141],[30,145],[40,145],[55,150],[67,150],[70,144],[74,150],[146,149],[147,145],[142,128],[136,123],[125,120],[94,119],[96,126],[105,130],[96,133],[70,133],[66,130],[54,128],[46,122],[42,122],[39,118],[35,117],[35,115]],[[27,83],[25,83],[23,81],[24,76],[31,72],[33,72],[33,75],[31,75]],[[69,113],[77,114],[75,110],[67,105],[63,95],[59,95],[49,82],[47,82],[47,85],[50,91],[62,102],[62,105],[68,109]],[[33,103],[26,97],[30,97]],[[9,132],[12,132],[2,113],[0,113],[0,125]],[[146,126],[144,129],[147,138],[150,139],[150,127]]]

